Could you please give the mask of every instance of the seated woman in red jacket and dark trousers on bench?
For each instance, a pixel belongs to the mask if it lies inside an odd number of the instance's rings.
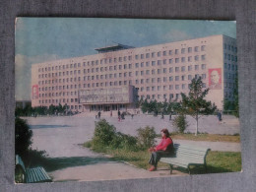
[[[171,156],[174,152],[173,142],[169,136],[167,129],[160,130],[161,140],[160,144],[157,147],[152,147],[149,149],[151,154],[151,159],[149,163],[152,164],[149,171],[157,170],[158,162],[160,158]]]

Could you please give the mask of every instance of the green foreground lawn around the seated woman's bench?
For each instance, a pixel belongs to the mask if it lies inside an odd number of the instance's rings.
[[[131,152],[122,149],[100,148],[96,152],[101,152],[110,156],[111,160],[124,160],[137,167],[148,169],[150,164],[150,153],[147,151]],[[241,170],[241,153],[233,152],[209,152],[207,156],[207,173],[236,172]],[[168,167],[168,164],[160,162],[159,166]],[[179,168],[177,168],[179,169]],[[204,166],[191,166],[192,174],[204,174]],[[186,172],[184,169],[179,169]]]

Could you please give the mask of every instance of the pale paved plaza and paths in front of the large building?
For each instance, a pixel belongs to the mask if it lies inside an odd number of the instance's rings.
[[[83,147],[83,143],[90,141],[94,135],[95,117],[82,116],[44,116],[26,117],[33,132],[32,149],[45,150],[48,158],[63,164],[63,168],[49,172],[53,181],[62,180],[112,180],[150,178],[160,176],[186,175],[184,172],[174,171],[169,174],[168,169],[149,172],[123,161],[112,161],[102,154],[92,152]],[[157,133],[163,127],[171,132],[173,127],[167,116],[164,119],[152,115],[126,116],[125,120],[118,122],[116,116],[102,116],[116,127],[116,131],[135,136],[136,130],[147,125],[154,126]],[[195,130],[195,120],[188,118],[188,131]],[[204,127],[204,128],[202,128]],[[239,122],[233,116],[224,115],[224,123],[219,125],[216,116],[202,117],[199,124],[200,132],[212,134],[238,134]],[[212,151],[240,152],[239,143],[225,142],[194,142],[173,140],[174,143],[205,146]],[[70,160],[74,162],[71,163]]]

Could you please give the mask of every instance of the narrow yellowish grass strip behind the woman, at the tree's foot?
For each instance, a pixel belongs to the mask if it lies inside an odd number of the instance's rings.
[[[207,134],[199,133],[197,136],[191,133],[171,133],[172,139],[178,140],[192,140],[192,141],[208,141],[208,142],[234,142],[240,143],[239,135],[218,135],[218,134]]]

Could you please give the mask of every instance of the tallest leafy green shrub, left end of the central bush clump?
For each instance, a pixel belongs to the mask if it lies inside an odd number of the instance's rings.
[[[109,146],[115,137],[115,127],[108,124],[105,119],[96,122],[96,129],[93,138],[93,148],[96,146]]]

